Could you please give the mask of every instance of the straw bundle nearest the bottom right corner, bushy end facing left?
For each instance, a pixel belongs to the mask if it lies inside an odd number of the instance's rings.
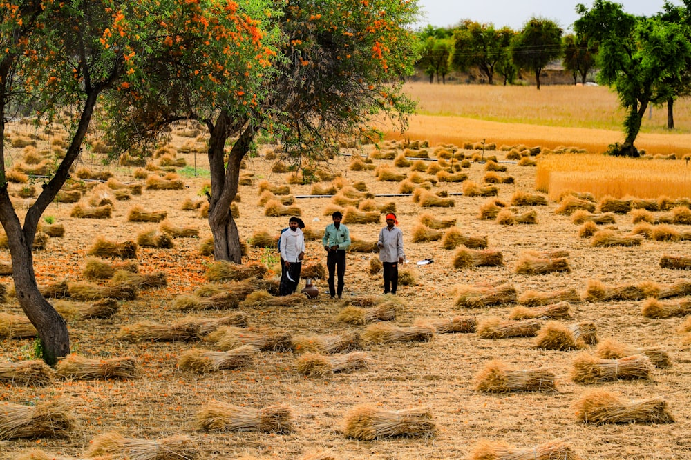
[[[674,423],[662,398],[621,399],[606,390],[587,392],[575,405],[576,419],[585,423]]]

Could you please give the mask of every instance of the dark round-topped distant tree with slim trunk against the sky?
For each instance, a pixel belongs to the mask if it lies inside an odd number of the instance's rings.
[[[516,66],[535,74],[540,89],[540,74],[549,61],[561,56],[562,30],[553,21],[531,18],[511,43],[511,59]]]

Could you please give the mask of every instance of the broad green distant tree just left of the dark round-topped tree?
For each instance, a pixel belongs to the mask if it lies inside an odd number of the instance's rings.
[[[462,23],[453,32],[451,65],[461,72],[476,67],[492,85],[497,66],[509,58],[512,37],[513,30],[507,27],[495,29],[493,24]]]

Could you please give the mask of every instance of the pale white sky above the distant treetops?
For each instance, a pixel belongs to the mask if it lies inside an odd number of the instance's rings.
[[[426,13],[419,26],[448,27],[455,26],[462,19],[471,19],[520,30],[531,17],[539,16],[555,21],[564,30],[571,30],[571,24],[578,19],[578,3],[587,8],[593,5],[592,0],[419,0]],[[615,3],[623,5],[625,12],[652,16],[662,10],[665,1],[616,0]],[[679,0],[670,3],[681,4]]]

